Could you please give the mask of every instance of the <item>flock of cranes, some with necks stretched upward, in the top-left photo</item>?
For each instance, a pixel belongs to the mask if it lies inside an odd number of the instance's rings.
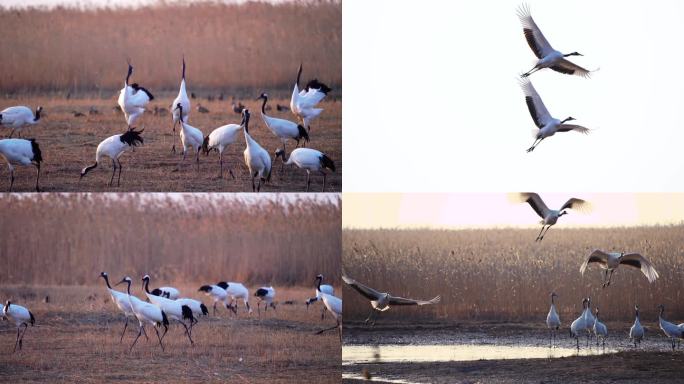
[[[326,97],[331,89],[326,84],[318,81],[318,79],[309,81],[304,88],[300,89],[299,82],[301,73],[302,65],[300,64],[297,72],[297,80],[294,84],[292,97],[290,99],[290,110],[294,114],[296,121],[268,116],[266,114],[268,94],[262,93],[257,98],[257,100],[263,100],[261,105],[261,117],[266,127],[282,142],[282,148],[278,148],[274,151],[274,158],[271,160],[269,152],[250,135],[250,112],[244,107],[240,108],[242,114],[242,121],[240,124],[223,125],[206,136],[199,128],[188,124],[191,106],[190,98],[188,97],[188,92],[186,90],[185,58],[183,58],[180,90],[178,91],[178,96],[171,104],[174,138],[171,149],[173,153],[176,152],[175,132],[177,125],[180,125],[179,136],[181,146],[183,147],[183,157],[175,170],[180,170],[188,152],[192,152],[197,163],[197,172],[199,172],[200,152],[203,151],[208,155],[211,151],[217,151],[220,164],[218,177],[222,178],[223,154],[230,144],[234,144],[237,141],[239,133],[243,132],[246,144],[243,153],[244,161],[252,179],[252,191],[259,192],[262,184],[271,179],[271,168],[273,162],[278,158],[282,160],[283,166],[294,164],[298,168],[306,170],[307,192],[309,191],[311,184],[311,172],[322,175],[322,190],[325,191],[327,172],[335,172],[335,162],[321,151],[304,147],[304,143],[309,141],[311,122],[323,112],[322,108],[318,108],[318,104]],[[124,114],[128,129],[124,133],[110,136],[99,143],[95,152],[95,163],[82,169],[81,178],[95,169],[98,165],[102,164],[105,158],[109,158],[112,162],[112,176],[108,185],[110,187],[113,186],[114,176],[118,169],[119,175],[116,185],[119,186],[121,182],[121,171],[123,169],[120,161],[121,156],[128,150],[139,144],[143,144],[141,134],[144,128],[136,130],[135,124],[143,116],[147,104],[154,99],[154,96],[150,91],[140,86],[138,83],[129,84],[132,74],[133,66],[129,62],[124,87],[121,89],[118,98],[119,107]],[[42,107],[38,107],[34,114],[28,107],[16,106],[0,112],[0,125],[12,128],[9,138],[0,140],[0,156],[5,159],[10,171],[10,192],[14,185],[15,165],[34,165],[36,167],[35,189],[38,192],[40,191],[40,166],[43,161],[40,146],[35,139],[12,138],[12,135],[15,130],[20,132],[25,126],[37,124],[40,120],[42,110]],[[290,153],[287,153],[285,144],[289,140],[294,140],[296,142],[296,147]],[[302,144],[301,147],[300,144]],[[228,171],[230,172],[231,177],[235,179],[233,171],[230,168]],[[255,179],[258,180],[258,183],[255,183]]]

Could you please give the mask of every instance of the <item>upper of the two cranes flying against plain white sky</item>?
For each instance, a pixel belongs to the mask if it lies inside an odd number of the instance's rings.
[[[566,57],[582,56],[578,52],[563,54],[553,49],[551,44],[546,40],[537,24],[532,19],[530,9],[527,6],[522,6],[518,9],[518,17],[523,26],[523,33],[525,40],[532,49],[532,52],[537,56],[537,63],[532,69],[522,75],[528,77],[534,72],[544,68],[551,68],[552,70],[566,75],[577,75],[581,77],[589,77],[592,71],[586,70],[579,65],[569,61]]]

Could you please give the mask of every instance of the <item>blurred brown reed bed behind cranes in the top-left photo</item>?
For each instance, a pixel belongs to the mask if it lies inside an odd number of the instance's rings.
[[[177,89],[182,55],[190,91],[291,89],[300,62],[304,78],[342,83],[338,1],[0,10],[0,26],[3,92],[111,91],[126,58],[133,81]]]

